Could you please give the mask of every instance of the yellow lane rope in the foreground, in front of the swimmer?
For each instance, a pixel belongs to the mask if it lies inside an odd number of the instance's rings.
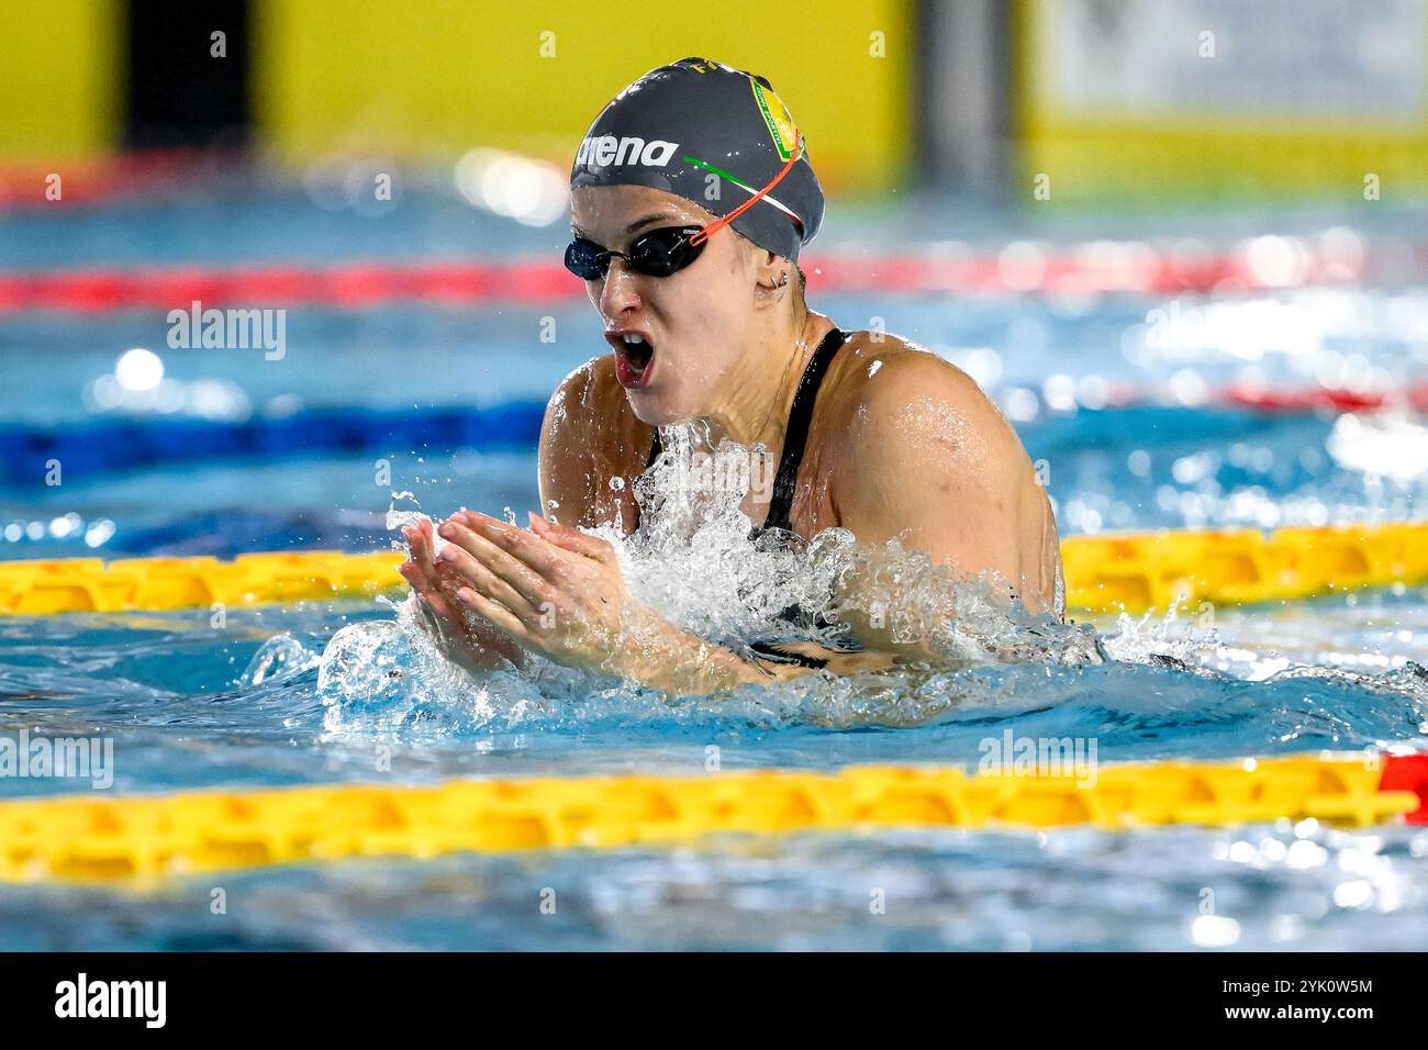
[[[1311,817],[1372,826],[1397,821],[1419,804],[1414,790],[1379,790],[1381,777],[1378,760],[1319,754],[1114,764],[1084,776],[860,766],[835,773],[73,794],[0,803],[0,879],[143,883],[344,857],[603,849],[725,831],[1132,829]]]

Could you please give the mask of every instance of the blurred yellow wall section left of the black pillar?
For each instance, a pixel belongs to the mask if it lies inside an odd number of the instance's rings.
[[[0,157],[61,160],[114,146],[119,0],[0,6]]]

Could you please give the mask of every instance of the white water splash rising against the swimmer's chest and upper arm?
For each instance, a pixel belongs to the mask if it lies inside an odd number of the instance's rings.
[[[767,637],[840,646],[860,623],[950,664],[1104,659],[1088,629],[1032,616],[1004,597],[997,577],[955,577],[898,539],[858,544],[834,527],[804,541],[774,529],[751,544],[743,504],[765,457],[724,440],[703,454],[727,466],[698,471],[707,431],[667,431],[661,456],[635,483],[640,531],[628,541],[613,529],[604,537],[621,550],[631,593],[675,626],[745,651]],[[800,610],[793,624],[790,609]]]

